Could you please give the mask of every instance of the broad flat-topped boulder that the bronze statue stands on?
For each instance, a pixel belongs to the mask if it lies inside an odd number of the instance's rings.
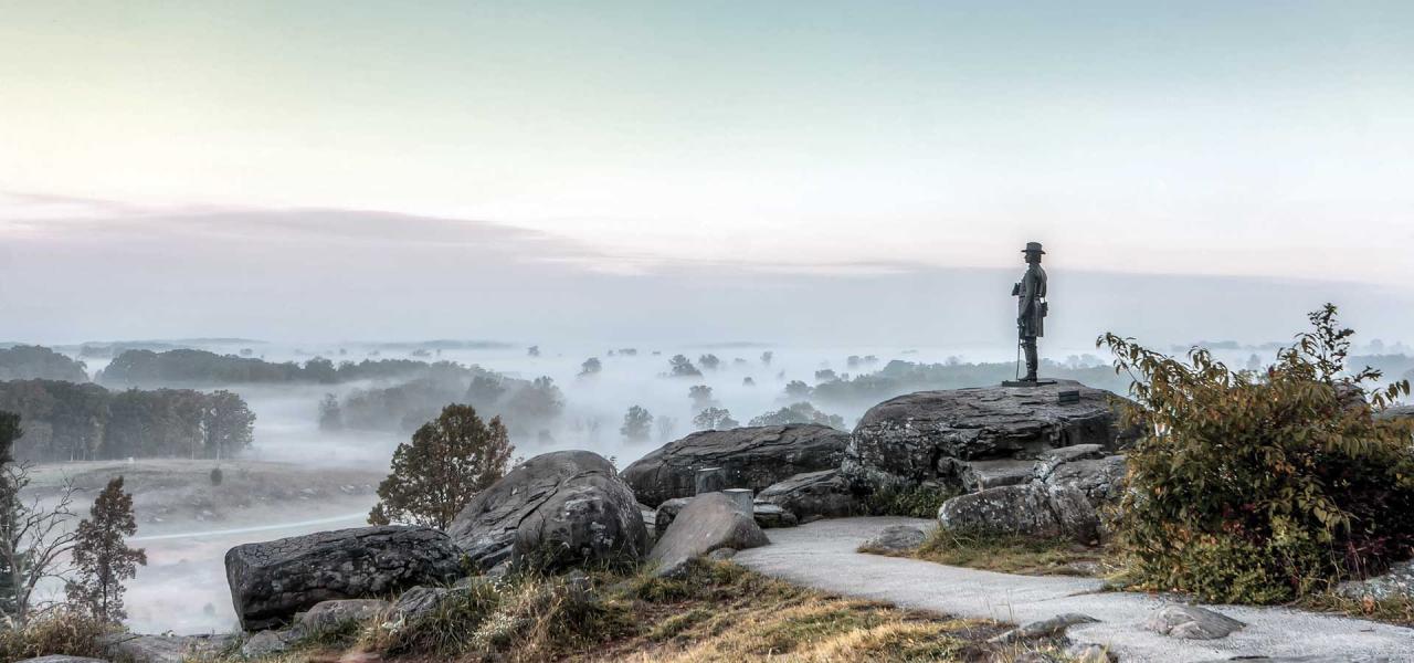
[[[1060,392],[1079,399],[1062,403]],[[1035,459],[1079,444],[1123,447],[1133,435],[1121,434],[1118,403],[1118,396],[1075,380],[899,396],[864,413],[841,467],[867,488],[925,481],[960,488],[966,461]]]

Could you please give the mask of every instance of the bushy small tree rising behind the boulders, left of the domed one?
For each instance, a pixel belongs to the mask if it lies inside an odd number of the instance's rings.
[[[485,423],[471,406],[452,403],[393,451],[368,522],[447,529],[471,498],[505,476],[513,451],[501,417]]]

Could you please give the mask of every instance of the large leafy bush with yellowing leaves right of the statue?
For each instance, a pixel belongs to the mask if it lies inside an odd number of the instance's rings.
[[[1336,308],[1309,318],[1264,372],[1099,339],[1134,376],[1124,418],[1145,431],[1117,533],[1143,585],[1277,602],[1414,553],[1414,426],[1373,416],[1408,383],[1367,393],[1380,373],[1345,370]]]

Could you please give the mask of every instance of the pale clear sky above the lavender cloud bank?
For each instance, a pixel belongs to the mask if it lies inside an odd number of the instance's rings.
[[[1407,1],[0,16],[0,256],[322,209],[533,230],[615,274],[1012,267],[1032,239],[1060,270],[1408,290],[1414,264]],[[242,213],[221,232],[280,239]]]

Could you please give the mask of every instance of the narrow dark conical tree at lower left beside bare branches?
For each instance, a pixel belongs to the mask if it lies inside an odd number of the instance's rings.
[[[139,564],[147,565],[147,553],[124,541],[136,533],[133,496],[123,492],[123,478],[116,476],[98,493],[89,517],[79,520],[75,530],[75,578],[66,585],[71,602],[105,622],[116,623],[127,616],[123,581],[137,575]]]

